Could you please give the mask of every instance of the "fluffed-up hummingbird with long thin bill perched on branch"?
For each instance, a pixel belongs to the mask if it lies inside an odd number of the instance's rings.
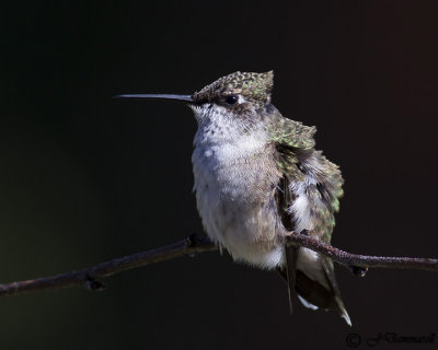
[[[333,261],[285,244],[290,232],[330,244],[344,183],[315,150],[315,127],[285,118],[272,104],[274,72],[234,72],[192,95],[130,94],[180,101],[195,114],[192,155],[197,209],[208,237],[235,261],[277,270],[311,310],[350,318]]]

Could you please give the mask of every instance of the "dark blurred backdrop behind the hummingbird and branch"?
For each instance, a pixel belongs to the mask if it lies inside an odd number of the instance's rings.
[[[273,69],[274,104],[318,126],[318,148],[341,165],[335,246],[437,257],[436,10],[436,1],[3,1],[0,282],[201,233],[192,112],[112,96],[191,94],[237,70]],[[362,341],[438,334],[436,273],[359,279],[338,268],[337,277],[353,328],[298,304],[289,316],[276,273],[209,253],[124,272],[101,293],[1,299],[1,349],[342,349],[351,331]]]

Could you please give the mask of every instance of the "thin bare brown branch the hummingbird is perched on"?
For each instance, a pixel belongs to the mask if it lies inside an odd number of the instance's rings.
[[[356,255],[335,248],[306,234],[295,232],[285,240],[286,244],[306,247],[330,257],[333,261],[349,268],[358,276],[365,276],[368,268],[377,267],[438,271],[438,259]],[[180,256],[212,252],[216,249],[216,245],[208,238],[200,238],[196,235],[191,235],[183,241],[164,247],[116,258],[78,271],[0,284],[0,296],[54,290],[73,285],[87,287],[90,290],[102,290],[105,288],[105,285],[99,281],[102,278]]]

